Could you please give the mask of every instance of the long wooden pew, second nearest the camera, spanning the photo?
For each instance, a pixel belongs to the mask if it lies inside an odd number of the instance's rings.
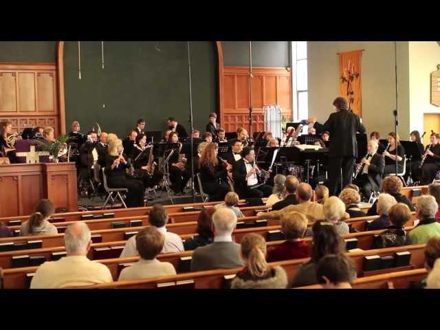
[[[348,238],[349,235],[359,235],[360,233],[348,234],[344,235],[344,238]],[[268,245],[276,245],[281,242],[268,243]],[[424,265],[424,249],[425,244],[418,245],[404,245],[395,248],[385,248],[385,249],[377,249],[377,250],[367,250],[367,251],[359,251],[359,252],[347,252],[347,256],[350,256],[355,263],[356,269],[358,271],[358,276],[363,276],[362,265],[364,256],[371,256],[375,254],[379,254],[380,256],[388,256],[393,255],[395,252],[409,251],[411,252],[410,264],[415,268],[421,268]],[[176,269],[178,269],[179,259],[181,256],[190,256],[192,251],[179,252],[174,254],[162,254],[159,255],[159,260],[168,261],[172,263]],[[103,263],[109,267],[109,270],[113,276],[113,279],[116,280],[119,274],[119,265],[121,263],[133,263],[138,260],[139,257],[134,256],[130,258],[117,258],[117,259],[104,259],[96,262]],[[296,259],[294,261],[282,261],[281,263],[285,263],[286,272],[289,274],[289,281],[292,281],[294,276],[294,272],[296,272],[299,265],[305,261],[308,261],[309,258],[305,259]],[[278,263],[275,263],[278,264]],[[284,264],[283,264],[284,267]],[[12,268],[6,269],[3,271],[4,275],[4,285],[5,288],[23,288],[25,287],[25,276],[29,273],[36,272],[38,267],[22,267],[22,268]],[[237,271],[237,270],[236,270]],[[216,273],[217,274],[217,273]],[[234,272],[230,273],[234,274]],[[179,274],[185,275],[185,274]],[[218,280],[218,279],[217,279]],[[217,281],[216,280],[216,281]]]

